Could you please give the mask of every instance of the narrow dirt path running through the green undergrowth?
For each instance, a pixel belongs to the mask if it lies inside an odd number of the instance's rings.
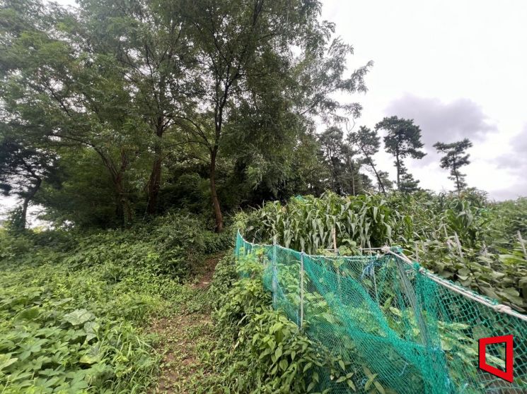
[[[212,282],[214,268],[224,253],[209,256],[197,268],[197,280],[189,285],[190,300],[205,297]],[[189,303],[190,304],[190,303]],[[159,318],[151,325],[151,332],[159,335],[158,350],[164,352],[158,386],[151,393],[190,394],[191,377],[199,369],[199,347],[212,333],[210,311],[183,305],[181,313]]]

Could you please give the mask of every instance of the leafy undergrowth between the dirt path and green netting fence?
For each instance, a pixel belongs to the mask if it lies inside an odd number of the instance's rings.
[[[272,309],[262,270],[254,260],[241,258],[236,263],[233,256],[216,266],[209,290],[216,306],[215,340],[204,352],[204,367],[193,390],[318,393],[320,369],[330,370],[335,381],[354,388],[352,374],[344,373],[348,366],[344,360],[324,352],[281,311]]]

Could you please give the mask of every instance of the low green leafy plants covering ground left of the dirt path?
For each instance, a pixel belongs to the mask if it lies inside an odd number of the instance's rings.
[[[142,329],[224,239],[196,217],[127,231],[0,233],[2,393],[144,392],[160,357]]]

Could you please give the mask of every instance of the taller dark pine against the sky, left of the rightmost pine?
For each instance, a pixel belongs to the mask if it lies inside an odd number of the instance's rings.
[[[404,167],[405,157],[422,159],[426,153],[419,150],[423,147],[421,142],[421,129],[414,124],[413,119],[399,119],[398,117],[386,117],[378,122],[376,130],[387,131],[384,137],[386,152],[395,157],[395,168],[397,169],[397,188],[401,190],[401,176],[406,175],[406,181],[410,180],[410,174]],[[412,177],[412,181],[413,177]]]

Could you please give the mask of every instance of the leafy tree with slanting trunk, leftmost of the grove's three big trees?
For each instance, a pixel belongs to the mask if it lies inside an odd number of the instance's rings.
[[[40,146],[95,151],[114,186],[116,212],[129,224],[126,174],[148,126],[134,111],[121,64],[92,45],[88,26],[74,14],[37,1],[11,3],[0,35],[0,99],[10,124]],[[26,19],[28,4],[45,12]]]

